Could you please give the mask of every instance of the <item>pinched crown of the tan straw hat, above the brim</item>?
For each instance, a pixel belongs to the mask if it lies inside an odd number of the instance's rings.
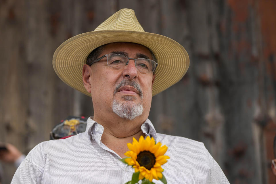
[[[132,9],[120,9],[101,23],[94,31],[124,30],[145,32]]]

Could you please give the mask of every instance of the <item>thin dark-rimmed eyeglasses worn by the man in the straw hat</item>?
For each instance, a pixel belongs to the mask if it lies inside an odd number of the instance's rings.
[[[94,64],[95,62],[98,62],[104,57],[107,57],[108,66],[115,69],[124,68],[124,66],[129,64],[129,60],[134,60],[137,71],[142,73],[151,73],[151,72],[153,73],[158,65],[158,63],[156,63],[154,60],[145,59],[145,58],[134,59],[134,58],[127,57],[125,55],[112,54],[112,53],[103,55],[102,57],[93,61],[92,64]]]

